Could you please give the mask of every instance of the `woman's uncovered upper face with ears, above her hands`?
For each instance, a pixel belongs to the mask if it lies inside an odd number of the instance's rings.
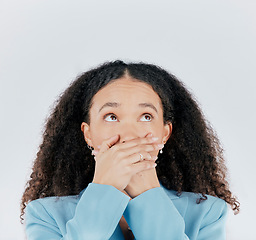
[[[101,143],[119,134],[120,142],[152,133],[165,143],[172,130],[164,125],[161,99],[152,87],[131,77],[122,77],[99,90],[92,99],[90,124],[81,129],[88,145],[98,150]]]

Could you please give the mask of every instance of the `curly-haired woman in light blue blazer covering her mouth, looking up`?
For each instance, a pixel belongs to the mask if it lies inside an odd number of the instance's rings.
[[[239,211],[225,175],[218,139],[180,81],[109,62],[57,102],[21,217],[28,240],[221,240],[227,204]]]

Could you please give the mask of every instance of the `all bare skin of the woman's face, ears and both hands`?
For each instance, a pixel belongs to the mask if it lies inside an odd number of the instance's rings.
[[[172,125],[164,124],[161,99],[152,87],[129,76],[112,81],[95,94],[89,114],[90,124],[83,122],[81,130],[94,148],[93,182],[131,198],[159,187],[155,160]]]

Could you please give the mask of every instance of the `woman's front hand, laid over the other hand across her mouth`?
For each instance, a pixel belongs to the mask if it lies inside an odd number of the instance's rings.
[[[139,138],[127,143],[117,143],[118,140],[118,135],[113,136],[102,143],[98,153],[94,151],[96,164],[93,182],[112,185],[123,191],[133,175],[155,168],[156,159],[152,159],[149,152],[160,147],[154,138]]]

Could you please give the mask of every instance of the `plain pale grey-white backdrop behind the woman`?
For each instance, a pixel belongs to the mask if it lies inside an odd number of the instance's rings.
[[[229,240],[256,239],[254,0],[0,1],[0,239],[24,239],[19,204],[53,102],[106,60],[155,63],[196,95],[225,148]]]

